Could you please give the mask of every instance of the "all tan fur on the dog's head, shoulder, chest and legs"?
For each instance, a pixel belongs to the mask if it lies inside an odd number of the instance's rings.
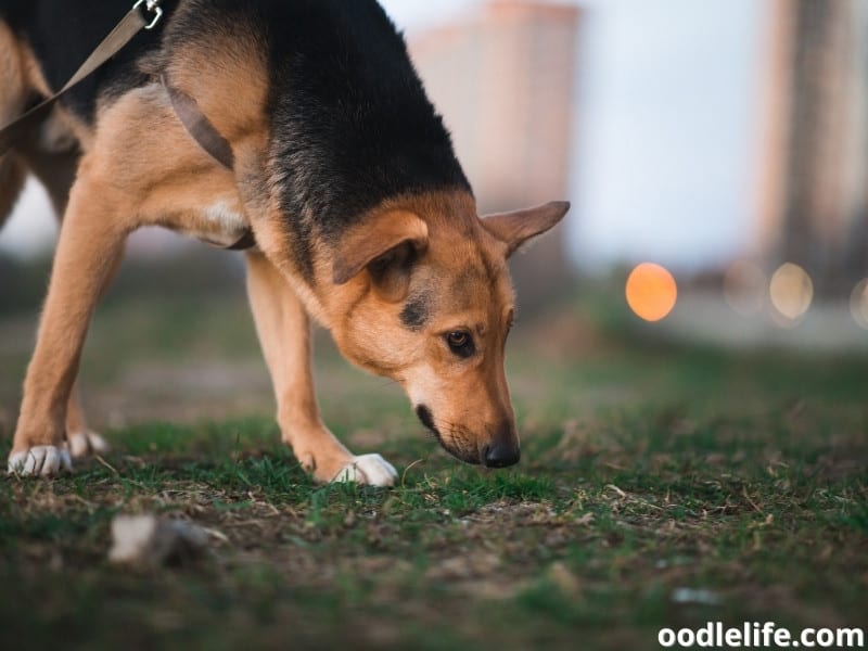
[[[29,51],[0,23],[4,51],[0,85],[15,92],[4,95],[0,117],[2,111],[20,110],[28,89],[47,90]],[[278,422],[283,441],[317,480],[334,480],[360,458],[320,418],[310,370],[311,317],[332,331],[348,359],[396,380],[414,406],[429,408],[450,452],[485,462],[486,450],[502,445],[514,449],[509,461],[514,462],[518,434],[503,373],[514,311],[506,259],[524,240],[550,228],[565,207],[552,204],[486,225],[464,192],[396,196],[362,216],[340,242],[315,240],[315,277],[308,282],[293,259],[286,216],[269,192],[266,73],[250,35],[215,35],[206,46],[181,48],[169,62],[169,82],[195,98],[230,142],[232,171],[190,138],[156,79],[100,104],[92,131],[56,112],[42,128],[41,142],[25,143],[14,158],[0,161],[0,215],[3,202],[14,199],[24,164],[64,214],[13,455],[34,446],[60,447],[66,433],[87,431],[74,380],[90,316],[117,269],[127,235],[158,225],[221,245],[253,229],[258,250],[246,257],[247,289]],[[68,135],[84,151],[77,166],[65,149]],[[394,273],[376,267],[390,255],[408,260],[413,255],[412,282],[431,289],[435,307],[419,328],[401,324],[410,277],[401,276],[403,267]],[[458,358],[450,350],[447,335],[456,331],[472,335],[472,357]]]

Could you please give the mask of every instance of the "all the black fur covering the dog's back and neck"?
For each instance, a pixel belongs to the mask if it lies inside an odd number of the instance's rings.
[[[58,88],[130,5],[0,0],[0,16],[26,36]],[[92,123],[98,98],[152,79],[143,58],[168,61],[175,44],[254,30],[268,52],[267,182],[280,192],[288,244],[308,279],[314,240],[335,244],[384,200],[471,191],[403,37],[374,0],[164,0],[162,7],[157,29],[137,36],[64,103]]]

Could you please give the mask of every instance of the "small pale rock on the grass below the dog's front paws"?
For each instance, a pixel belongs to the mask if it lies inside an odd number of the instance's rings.
[[[156,567],[201,556],[208,544],[205,529],[182,520],[156,515],[118,515],[112,521],[113,563]]]

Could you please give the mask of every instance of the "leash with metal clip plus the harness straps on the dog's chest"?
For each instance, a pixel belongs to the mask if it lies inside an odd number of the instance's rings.
[[[108,36],[97,46],[97,49],[85,60],[85,63],[81,64],[69,80],[64,84],[63,88],[0,129],[0,156],[11,150],[22,136],[44,120],[58,100],[102,67],[106,61],[129,43],[137,34],[142,29],[150,30],[156,27],[156,24],[163,17],[159,2],[161,0],[136,0],[132,9],[120,18],[120,22],[108,33]],[[220,136],[219,131],[199,110],[199,105],[193,98],[169,86],[165,76],[161,76],[159,80],[169,95],[175,114],[190,137],[205,153],[231,171],[234,168],[235,159],[229,141]],[[247,228],[238,242],[226,248],[229,251],[243,251],[255,245],[256,240],[254,239],[253,230]]]

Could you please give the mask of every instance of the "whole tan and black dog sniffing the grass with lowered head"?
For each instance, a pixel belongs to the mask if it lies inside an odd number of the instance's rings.
[[[131,1],[0,0],[0,126],[60,88]],[[154,225],[245,250],[282,439],[316,481],[387,486],[397,473],[322,422],[311,319],[399,383],[449,454],[516,463],[507,259],[569,204],[477,215],[374,0],[159,4],[154,29],[0,158],[0,226],[27,174],[62,216],[9,471],[54,475],[104,447],[75,398],[82,342],[127,235]]]

